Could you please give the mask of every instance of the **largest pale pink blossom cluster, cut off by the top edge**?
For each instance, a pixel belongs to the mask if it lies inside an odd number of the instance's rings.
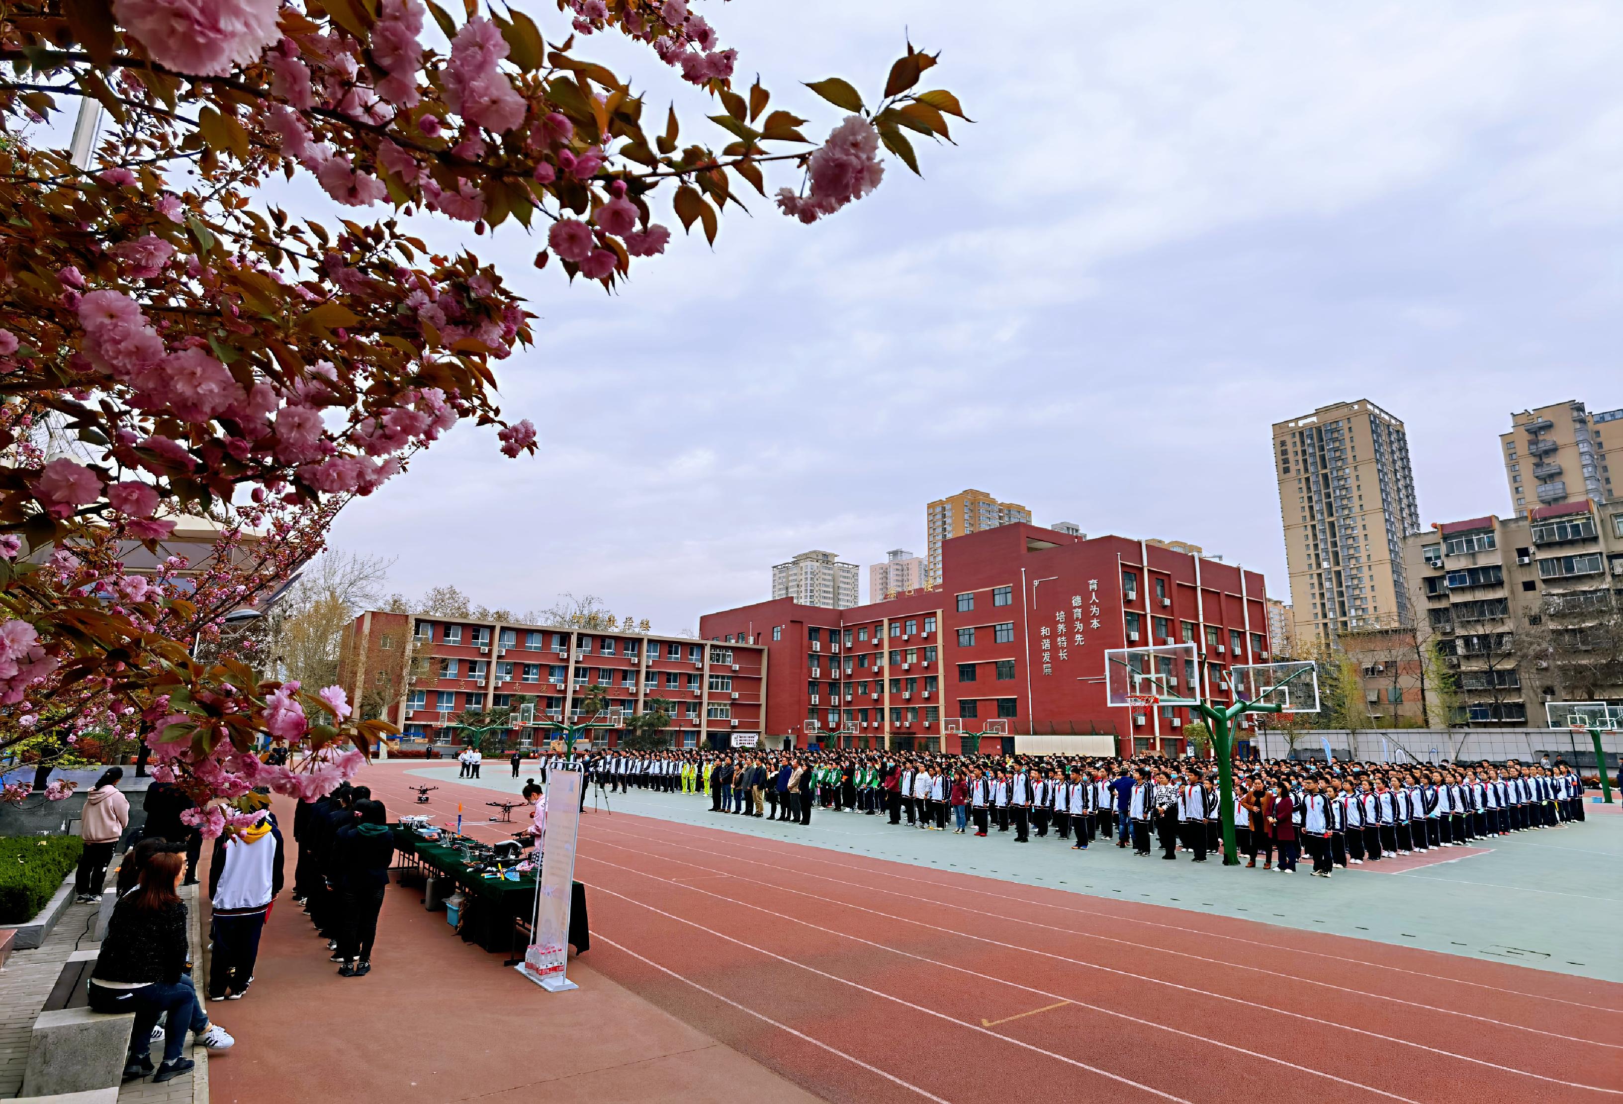
[[[114,0],[127,34],[180,73],[226,76],[281,37],[278,0]]]

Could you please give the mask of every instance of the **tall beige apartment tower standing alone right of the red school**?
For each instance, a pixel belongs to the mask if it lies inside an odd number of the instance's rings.
[[[1404,424],[1368,399],[1274,424],[1295,645],[1412,625],[1404,537],[1420,531]]]

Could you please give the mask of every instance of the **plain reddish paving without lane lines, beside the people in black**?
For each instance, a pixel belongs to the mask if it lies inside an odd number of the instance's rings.
[[[406,812],[399,768],[368,768],[359,781],[391,817]],[[469,817],[479,796],[466,791]],[[276,813],[289,830],[291,883],[291,804],[278,799]],[[581,960],[570,961],[579,989],[539,989],[503,969],[500,955],[456,938],[443,911],[424,911],[415,888],[390,886],[372,972],[339,977],[289,893],[291,885],[266,924],[253,989],[211,1005],[230,1013],[221,1020],[237,1036],[229,1060],[211,1070],[216,1104],[816,1099]]]

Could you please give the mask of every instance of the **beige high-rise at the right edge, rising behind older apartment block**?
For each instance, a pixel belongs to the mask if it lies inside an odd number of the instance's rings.
[[[1607,437],[1615,450],[1623,446],[1623,409],[1591,414],[1568,401],[1511,414],[1511,432],[1500,433],[1500,459],[1518,516],[1535,507],[1612,498]]]

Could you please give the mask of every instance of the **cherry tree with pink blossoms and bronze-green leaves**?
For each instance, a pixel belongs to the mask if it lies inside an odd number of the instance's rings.
[[[674,107],[656,128],[630,78],[578,49],[602,34],[703,89],[717,140],[683,144]],[[506,456],[536,448],[495,401],[532,315],[401,216],[532,234],[537,268],[613,289],[665,250],[670,216],[714,244],[769,170],[794,174],[774,203],[803,222],[870,193],[881,148],[917,172],[909,135],[962,119],[919,91],[935,60],[907,45],[872,104],[808,84],[844,112],[813,144],[760,80],[735,83],[737,52],[685,0],[0,0],[0,745],[49,701],[136,727],[198,797],[331,789],[390,727],[195,646],[456,422],[495,427]],[[86,101],[107,114],[94,148],[36,138]],[[349,216],[278,206],[278,174]],[[265,552],[195,589],[183,565],[125,570],[183,515]],[[261,735],[300,758],[265,766]]]

